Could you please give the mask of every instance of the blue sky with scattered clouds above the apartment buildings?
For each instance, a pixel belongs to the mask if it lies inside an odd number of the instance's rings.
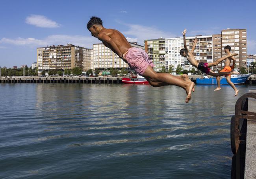
[[[214,2],[214,3],[213,3]],[[253,0],[12,0],[0,11],[0,66],[31,66],[36,48],[72,43],[92,48],[98,39],[86,28],[96,15],[130,41],[212,35],[226,28],[247,29],[247,54],[256,54]]]

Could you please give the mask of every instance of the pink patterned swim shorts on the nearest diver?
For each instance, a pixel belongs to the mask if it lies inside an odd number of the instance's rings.
[[[143,75],[150,65],[154,67],[154,63],[149,59],[148,54],[141,48],[129,48],[125,55],[128,65],[139,75]]]

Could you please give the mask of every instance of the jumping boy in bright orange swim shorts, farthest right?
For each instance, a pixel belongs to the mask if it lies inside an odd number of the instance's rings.
[[[229,45],[224,47],[224,51],[228,55],[231,54],[230,50],[231,50],[231,47]],[[233,65],[232,66],[230,66],[231,60],[233,60]],[[220,72],[231,72],[232,69],[234,69],[234,67],[235,67],[236,59],[234,57],[228,57],[227,59],[225,59],[224,63],[225,63],[225,66],[224,66],[223,70],[221,70]],[[228,84],[235,90],[235,95],[234,96],[237,96],[239,90],[235,87],[234,83],[232,83],[231,75],[228,74],[228,75],[225,75],[225,77],[226,77],[226,81],[228,82]],[[217,80],[217,83],[218,83],[218,87],[214,91],[217,91],[217,90],[221,89],[221,80],[220,80],[219,76],[216,77],[216,80]]]

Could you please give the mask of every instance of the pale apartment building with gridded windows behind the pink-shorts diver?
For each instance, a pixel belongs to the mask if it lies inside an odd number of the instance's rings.
[[[130,42],[134,47],[144,50],[144,46],[137,44],[136,42]],[[107,48],[104,44],[93,44],[93,60],[91,68],[93,70],[109,70],[109,68],[127,68],[128,64],[125,63],[119,56]]]

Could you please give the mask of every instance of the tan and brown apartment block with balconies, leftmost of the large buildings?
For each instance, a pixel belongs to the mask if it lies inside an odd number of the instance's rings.
[[[83,69],[83,47],[72,44],[37,48],[38,70]]]

